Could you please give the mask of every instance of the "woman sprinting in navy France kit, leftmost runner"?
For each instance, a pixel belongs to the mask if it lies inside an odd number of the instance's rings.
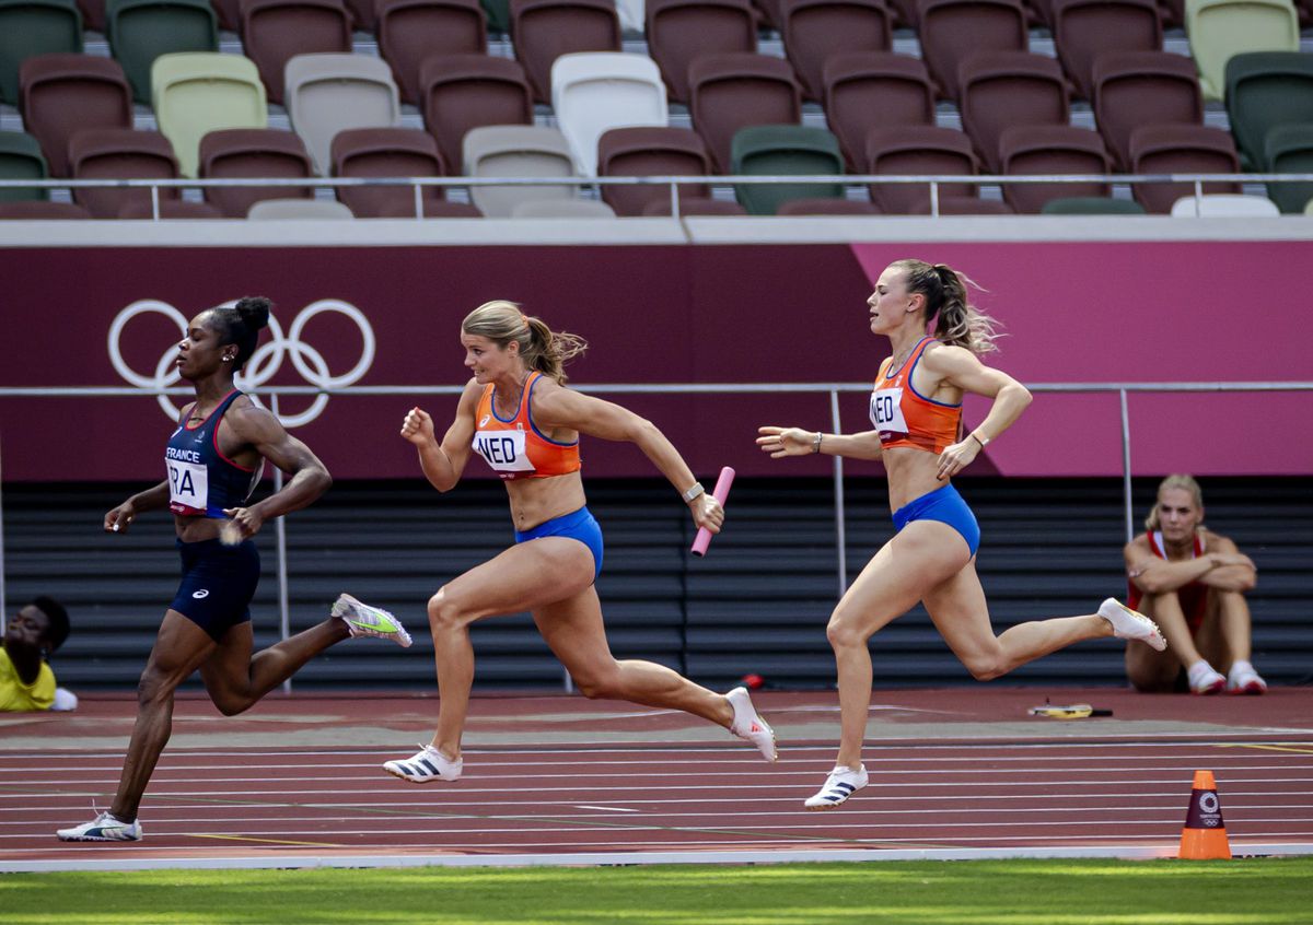
[[[137,724],[114,802],[95,820],[60,829],[62,841],[142,837],[137,808],[169,739],[173,691],[196,669],[214,706],[231,716],[348,636],[381,636],[410,646],[406,630],[390,614],[366,610],[343,594],[332,618],[251,653],[248,605],[260,580],[260,554],[251,537],[267,521],[311,504],[332,483],[305,443],[232,384],[268,321],[269,300],[263,298],[210,308],[192,319],[175,362],[196,387],[196,401],[183,409],[164,449],[168,478],[105,514],[106,531],[125,533],[140,513],[172,510],[183,581],[137,688]],[[265,459],[291,478],[277,493],[246,506]]]

